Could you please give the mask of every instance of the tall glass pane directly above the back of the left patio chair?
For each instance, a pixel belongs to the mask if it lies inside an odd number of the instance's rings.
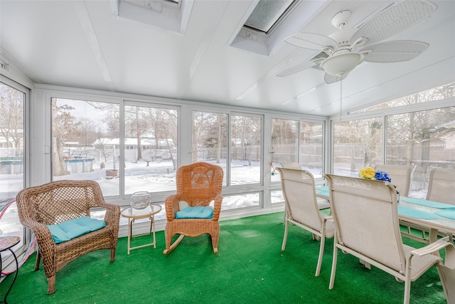
[[[300,155],[302,169],[314,177],[322,177],[323,124],[322,122],[300,122]]]

